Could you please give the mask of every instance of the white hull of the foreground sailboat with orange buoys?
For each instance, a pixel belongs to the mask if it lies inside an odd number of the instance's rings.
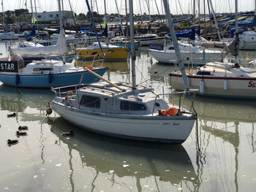
[[[107,116],[81,112],[75,107],[67,107],[57,101],[50,101],[50,107],[62,118],[80,128],[126,139],[147,140],[151,142],[184,142],[192,131],[195,117]],[[159,119],[162,118],[162,119]]]

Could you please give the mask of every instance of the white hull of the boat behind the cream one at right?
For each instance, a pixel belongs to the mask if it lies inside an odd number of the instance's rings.
[[[149,50],[149,54],[157,61],[165,64],[175,64],[177,61],[176,53],[165,52],[163,50]],[[221,61],[222,53],[205,53],[205,59],[203,60],[203,53],[189,53],[181,52],[182,58],[184,58],[184,63],[192,62],[193,64],[206,64],[211,61]],[[192,58],[191,58],[192,56]]]

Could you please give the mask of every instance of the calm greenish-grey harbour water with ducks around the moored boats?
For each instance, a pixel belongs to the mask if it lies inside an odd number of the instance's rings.
[[[1,53],[5,45],[1,44]],[[249,53],[253,56],[254,53]],[[242,53],[246,57],[246,52]],[[251,57],[252,57],[251,56]],[[173,66],[157,64],[146,49],[137,55],[137,82],[170,91]],[[130,81],[129,63],[106,64],[112,81]],[[154,74],[158,70],[159,75]],[[0,191],[254,191],[256,103],[197,96],[195,128],[183,145],[113,139],[68,123],[53,112],[53,93],[0,86]],[[170,99],[170,98],[166,98]],[[7,114],[16,112],[15,118]],[[17,138],[18,126],[29,126]],[[62,137],[62,131],[74,137]],[[19,139],[8,146],[7,139]]]

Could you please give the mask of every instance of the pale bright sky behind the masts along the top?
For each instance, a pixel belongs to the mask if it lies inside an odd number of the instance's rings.
[[[58,1],[57,0],[2,0],[4,3],[4,11],[14,10],[14,9],[26,9],[26,2],[29,11],[31,12],[31,1],[33,4],[33,9],[37,8],[37,12],[50,12],[58,10]],[[72,4],[72,9],[77,14],[80,12],[86,13],[88,9],[86,7],[86,0],[63,0],[64,9],[70,10],[69,1]],[[100,14],[104,14],[104,0],[89,0],[89,3],[93,3],[93,10],[97,11],[97,6]],[[118,4],[118,10],[120,14],[125,14],[125,1],[124,0],[105,0],[107,12],[116,13],[116,2]],[[115,2],[116,1],[116,2]],[[161,0],[133,0],[134,13],[140,14],[141,12],[148,14],[148,7],[146,1],[149,2],[150,13],[157,14],[157,7],[160,14],[162,14],[162,1]],[[199,0],[195,0],[196,2]],[[205,0],[207,2],[207,0]],[[213,3],[215,12],[235,12],[235,0],[211,0]],[[238,11],[250,11],[255,9],[256,0],[238,0]],[[34,5],[36,3],[36,7]],[[127,0],[128,4],[129,0]],[[192,4],[193,0],[169,0],[170,12],[173,15],[182,14],[182,13],[192,13]],[[157,3],[157,6],[156,6]],[[128,5],[127,5],[128,6]],[[141,12],[140,12],[141,7]],[[198,7],[196,5],[196,7]],[[206,10],[208,8],[206,7]],[[203,13],[203,0],[200,0],[200,13]]]

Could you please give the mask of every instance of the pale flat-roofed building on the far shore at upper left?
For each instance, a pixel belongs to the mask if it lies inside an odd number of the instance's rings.
[[[62,11],[64,24],[74,23],[72,11]],[[59,23],[59,11],[34,13],[35,21],[38,23]]]

